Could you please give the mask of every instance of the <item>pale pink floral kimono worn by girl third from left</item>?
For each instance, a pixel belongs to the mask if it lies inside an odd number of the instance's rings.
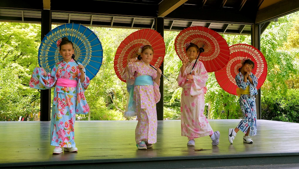
[[[187,74],[192,70],[194,61],[188,63],[186,70],[179,73],[176,79],[179,86],[183,88],[181,95],[181,135],[188,139],[204,137],[213,134],[213,129],[203,114],[205,108],[206,82],[208,72],[202,62],[197,61],[193,69],[193,80],[187,80]]]

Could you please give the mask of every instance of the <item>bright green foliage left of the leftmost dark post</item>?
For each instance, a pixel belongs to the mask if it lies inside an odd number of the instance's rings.
[[[40,36],[40,25],[0,22],[0,121],[38,119],[40,94],[28,82]]]

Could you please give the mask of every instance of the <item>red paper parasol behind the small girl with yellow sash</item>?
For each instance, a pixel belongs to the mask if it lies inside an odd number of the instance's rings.
[[[237,84],[235,77],[239,73],[239,68],[242,67],[241,61],[244,58],[249,58],[254,62],[254,69],[251,72],[259,79],[257,89],[259,89],[266,80],[267,62],[257,48],[247,44],[236,44],[229,47],[231,57],[227,66],[222,70],[215,72],[218,84],[228,93],[237,95]]]

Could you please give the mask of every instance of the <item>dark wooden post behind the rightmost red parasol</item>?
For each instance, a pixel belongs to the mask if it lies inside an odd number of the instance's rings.
[[[251,26],[251,45],[260,50],[260,36],[261,27],[260,24],[253,24]],[[257,90],[258,94],[255,96],[257,104],[257,119],[262,118],[262,107],[261,107],[261,90]]]

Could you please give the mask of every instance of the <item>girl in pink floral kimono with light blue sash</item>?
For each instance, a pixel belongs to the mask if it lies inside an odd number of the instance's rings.
[[[157,142],[156,103],[161,98],[159,85],[162,72],[160,69],[153,69],[149,64],[154,54],[151,46],[141,46],[139,53],[141,54],[138,56],[138,60],[136,58],[129,59],[122,78],[126,79],[127,83],[132,77],[135,78],[131,88],[132,94],[129,92],[130,98],[133,100],[133,102],[129,102],[134,104],[133,111],[138,119],[135,141],[138,149],[147,150]]]

